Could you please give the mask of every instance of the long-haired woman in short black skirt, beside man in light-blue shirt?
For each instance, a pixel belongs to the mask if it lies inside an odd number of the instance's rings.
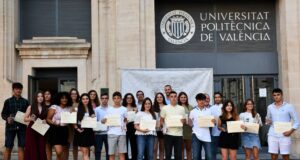
[[[88,94],[82,94],[80,100],[77,112],[77,124],[74,124],[74,139],[80,147],[82,159],[89,160],[90,147],[94,145],[95,141],[94,131],[92,128],[81,128],[80,124],[84,117],[95,117],[95,112]]]

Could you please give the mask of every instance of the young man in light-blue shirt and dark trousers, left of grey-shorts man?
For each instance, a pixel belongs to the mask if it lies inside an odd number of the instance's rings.
[[[108,108],[111,106],[108,105],[108,94],[102,93],[100,96],[101,105],[95,109],[95,114],[97,116],[97,121],[101,121],[107,114]],[[102,146],[104,143],[106,160],[108,160],[108,142],[107,142],[107,131],[97,131],[95,132],[95,159],[101,160]]]

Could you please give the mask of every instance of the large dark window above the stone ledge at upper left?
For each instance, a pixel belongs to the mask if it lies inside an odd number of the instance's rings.
[[[72,36],[91,41],[91,1],[21,0],[20,40]]]

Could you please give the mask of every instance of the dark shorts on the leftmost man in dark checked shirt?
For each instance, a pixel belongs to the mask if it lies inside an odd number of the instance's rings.
[[[17,130],[5,130],[5,147],[12,149],[14,147],[14,140],[17,135],[18,138],[18,147],[25,147],[25,129]]]

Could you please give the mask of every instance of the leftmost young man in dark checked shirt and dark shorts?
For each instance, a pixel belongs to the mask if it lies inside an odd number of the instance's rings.
[[[1,113],[2,119],[6,121],[5,124],[5,151],[3,154],[4,160],[10,160],[11,151],[14,146],[14,140],[18,137],[18,159],[24,159],[25,133],[26,125],[15,122],[14,117],[18,111],[26,112],[29,102],[22,98],[23,85],[21,83],[12,84],[13,96],[4,102]]]

